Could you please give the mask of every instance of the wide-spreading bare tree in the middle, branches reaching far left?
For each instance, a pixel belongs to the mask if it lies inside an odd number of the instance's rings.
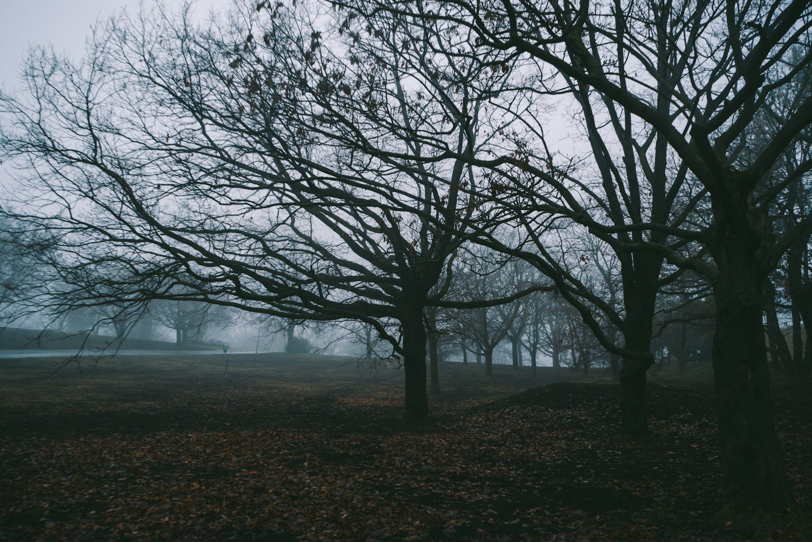
[[[371,325],[425,419],[423,311],[467,225],[487,229],[470,164],[510,73],[454,47],[473,37],[389,13],[122,15],[80,62],[33,51],[27,94],[0,97],[22,168],[2,213],[58,230],[65,310],[171,299]]]

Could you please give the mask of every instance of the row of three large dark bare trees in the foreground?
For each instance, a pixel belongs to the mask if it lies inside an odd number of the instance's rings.
[[[24,91],[0,97],[0,148],[21,168],[3,213],[52,255],[28,299],[361,322],[402,360],[419,420],[433,313],[464,309],[487,362],[518,333],[516,302],[555,292],[622,359],[621,429],[638,435],[659,312],[712,298],[728,499],[784,509],[762,319],[806,375],[780,319],[812,317],[810,9],[338,0],[247,2],[205,24],[121,15],[79,62],[33,51]]]

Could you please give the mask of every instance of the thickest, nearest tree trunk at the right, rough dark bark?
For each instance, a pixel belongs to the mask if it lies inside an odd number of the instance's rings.
[[[765,248],[773,239],[766,217],[747,207],[720,213],[715,206],[711,246],[719,269],[713,368],[725,498],[732,510],[786,510],[793,498],[773,424],[762,326]]]

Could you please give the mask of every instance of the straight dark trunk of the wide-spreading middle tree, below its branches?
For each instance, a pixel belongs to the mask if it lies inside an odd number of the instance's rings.
[[[429,417],[429,398],[425,389],[425,328],[420,308],[404,308],[403,350],[404,372],[406,376],[405,418],[412,422],[422,422]]]

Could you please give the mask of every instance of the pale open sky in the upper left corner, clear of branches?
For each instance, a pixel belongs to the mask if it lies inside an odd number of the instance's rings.
[[[153,0],[145,0],[149,5]],[[165,0],[180,6],[183,0]],[[195,11],[205,14],[210,6],[227,6],[230,0],[198,0]],[[19,87],[17,72],[30,45],[54,45],[58,52],[79,57],[84,38],[97,19],[138,10],[138,0],[0,0],[0,86]]]

